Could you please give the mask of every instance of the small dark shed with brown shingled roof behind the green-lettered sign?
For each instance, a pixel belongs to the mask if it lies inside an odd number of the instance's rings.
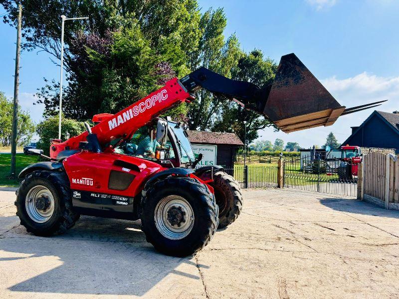
[[[216,148],[215,164],[226,168],[234,167],[237,148],[244,145],[234,133],[187,131],[187,134],[193,145],[194,152],[200,152],[199,147],[196,147],[196,145],[214,146]],[[205,164],[202,163],[201,165]]]

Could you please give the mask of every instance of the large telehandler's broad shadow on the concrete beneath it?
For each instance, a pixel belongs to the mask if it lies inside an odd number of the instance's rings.
[[[0,235],[0,250],[5,251],[1,261],[15,261],[14,270],[22,266],[21,259],[27,259],[24,267],[32,267],[23,270],[31,277],[9,288],[20,292],[143,296],[168,274],[200,280],[197,268],[208,268],[191,261],[192,256],[156,252],[140,222],[88,216],[64,235],[49,238],[15,226]],[[44,264],[37,260],[42,257]]]

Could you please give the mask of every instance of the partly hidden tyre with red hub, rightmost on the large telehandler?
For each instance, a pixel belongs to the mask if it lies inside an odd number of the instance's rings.
[[[242,209],[242,192],[235,179],[223,172],[213,174],[213,182],[210,185],[214,189],[216,204],[219,207],[219,226],[223,228],[235,221]]]

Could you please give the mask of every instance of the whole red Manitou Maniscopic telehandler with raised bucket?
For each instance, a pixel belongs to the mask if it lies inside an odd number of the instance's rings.
[[[160,252],[187,256],[202,249],[217,227],[239,215],[241,190],[221,166],[194,169],[201,156],[195,158],[181,124],[159,118],[195,100],[192,93],[200,88],[263,114],[287,133],[329,126],[340,115],[365,109],[345,110],[294,54],[281,58],[273,83],[263,89],[200,68],[115,115],[95,115],[97,125],[86,123],[79,136],[52,140],[49,157],[30,149],[49,161],[19,174],[24,180],[15,205],[21,224],[50,236],[65,232],[80,215],[141,219],[147,241]],[[153,152],[143,151],[146,134]]]

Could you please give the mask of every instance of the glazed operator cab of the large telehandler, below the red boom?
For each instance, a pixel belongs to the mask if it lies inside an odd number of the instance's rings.
[[[114,151],[160,163],[164,167],[191,168],[198,163],[181,123],[158,119],[138,129],[130,140],[111,144]]]

